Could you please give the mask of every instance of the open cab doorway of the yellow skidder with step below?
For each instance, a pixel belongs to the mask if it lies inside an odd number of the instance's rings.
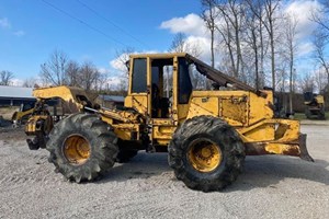
[[[168,56],[150,59],[148,126],[152,145],[167,146],[177,127],[177,107],[174,81],[177,76],[177,58]]]

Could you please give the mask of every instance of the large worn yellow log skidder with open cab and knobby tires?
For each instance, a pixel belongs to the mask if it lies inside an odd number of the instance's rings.
[[[132,55],[128,66],[122,108],[102,108],[76,88],[34,90],[29,146],[46,148],[66,178],[92,181],[138,150],[168,151],[175,176],[205,192],[232,183],[246,154],[313,161],[299,123],[273,118],[272,91],[254,90],[188,54]],[[214,89],[193,89],[195,71]],[[45,104],[50,99],[60,100],[55,113]]]

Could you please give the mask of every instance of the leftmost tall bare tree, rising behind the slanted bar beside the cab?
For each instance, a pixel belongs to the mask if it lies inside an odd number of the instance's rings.
[[[207,30],[211,32],[211,53],[212,53],[212,67],[215,67],[215,51],[214,51],[214,43],[215,43],[215,31],[216,31],[216,20],[218,18],[218,11],[216,10],[217,0],[202,0],[201,1],[203,12],[201,14],[204,20]]]

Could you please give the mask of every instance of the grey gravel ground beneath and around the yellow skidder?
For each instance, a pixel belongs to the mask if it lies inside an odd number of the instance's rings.
[[[0,218],[329,218],[329,122],[305,122],[315,163],[248,157],[237,182],[202,193],[177,181],[167,154],[138,153],[94,183],[69,183],[22,129],[0,129]]]

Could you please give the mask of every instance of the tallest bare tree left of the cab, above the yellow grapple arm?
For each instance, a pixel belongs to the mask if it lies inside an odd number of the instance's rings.
[[[46,84],[67,84],[68,57],[64,51],[55,50],[49,59],[41,65],[39,77]]]

